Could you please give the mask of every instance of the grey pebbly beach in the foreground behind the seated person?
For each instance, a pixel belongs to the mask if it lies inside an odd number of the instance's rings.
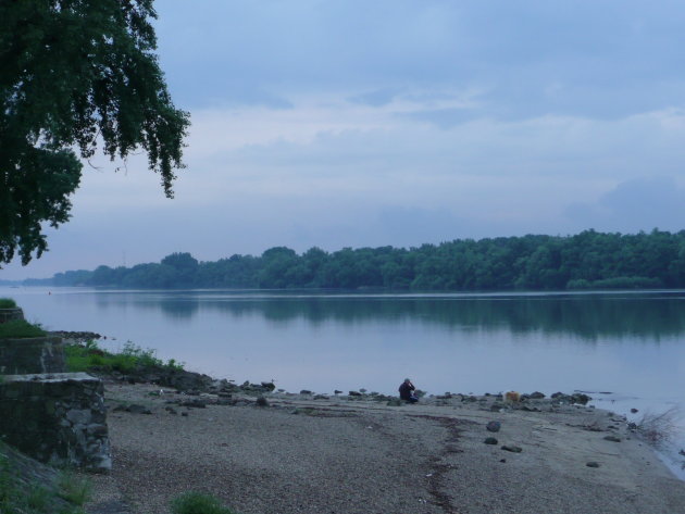
[[[91,514],[169,513],[188,490],[239,514],[685,512],[685,482],[622,418],[587,406],[105,391],[114,465],[94,477]]]

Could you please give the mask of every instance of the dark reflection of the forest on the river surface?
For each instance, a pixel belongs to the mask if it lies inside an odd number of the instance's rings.
[[[312,326],[411,322],[461,331],[570,335],[587,341],[630,337],[658,342],[685,333],[682,293],[336,297],[186,291],[95,297],[98,309],[153,310],[176,323],[213,312],[236,319],[252,316],[284,325],[301,321]]]

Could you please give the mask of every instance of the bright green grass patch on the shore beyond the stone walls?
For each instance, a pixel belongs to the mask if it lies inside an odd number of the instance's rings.
[[[155,351],[142,349],[128,341],[116,353],[101,349],[97,342],[90,340],[85,344],[68,344],[64,348],[66,367],[70,372],[87,372],[99,368],[120,373],[130,373],[135,369],[149,367],[167,367],[183,369],[183,364],[171,359],[164,363],[155,356]]]

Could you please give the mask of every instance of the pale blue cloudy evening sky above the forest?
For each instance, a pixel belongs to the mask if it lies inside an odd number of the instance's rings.
[[[461,238],[685,228],[685,3],[158,0],[175,198],[86,164],[0,279]]]

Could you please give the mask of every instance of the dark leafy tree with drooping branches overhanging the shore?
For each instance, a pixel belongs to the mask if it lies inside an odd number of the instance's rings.
[[[47,249],[70,218],[78,156],[142,148],[173,197],[189,114],[154,54],[153,0],[0,2],[0,264]]]

